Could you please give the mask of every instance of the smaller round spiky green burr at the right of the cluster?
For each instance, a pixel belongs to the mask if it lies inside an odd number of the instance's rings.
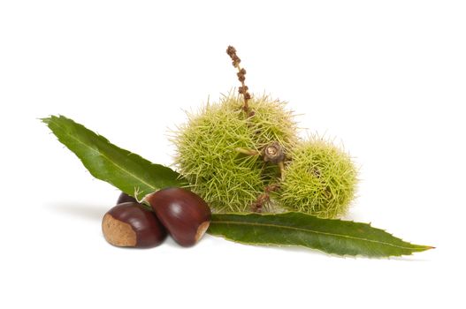
[[[351,157],[317,137],[300,142],[290,155],[279,192],[282,206],[322,218],[344,215],[357,184]]]

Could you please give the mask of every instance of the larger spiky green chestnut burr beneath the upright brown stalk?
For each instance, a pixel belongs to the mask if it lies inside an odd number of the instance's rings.
[[[240,95],[229,94],[206,104],[187,115],[172,139],[180,174],[217,212],[251,211],[265,186],[280,175],[277,164],[264,162],[263,148],[276,141],[287,152],[296,140],[293,113],[284,102],[251,98],[248,113],[243,103]]]

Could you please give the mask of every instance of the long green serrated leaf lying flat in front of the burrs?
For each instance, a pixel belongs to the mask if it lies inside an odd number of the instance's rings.
[[[248,245],[293,245],[338,255],[389,257],[432,249],[412,245],[370,224],[302,213],[214,214],[208,232]]]

